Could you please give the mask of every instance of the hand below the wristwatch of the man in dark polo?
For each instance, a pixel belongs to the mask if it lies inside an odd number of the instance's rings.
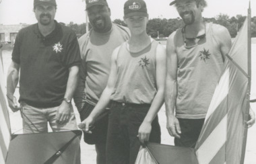
[[[57,124],[65,124],[68,122],[71,113],[71,104],[63,101],[59,106],[56,114]]]

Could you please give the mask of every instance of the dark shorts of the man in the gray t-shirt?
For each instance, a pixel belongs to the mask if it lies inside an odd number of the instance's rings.
[[[86,102],[82,110],[79,112],[81,121],[85,120],[93,109],[94,106]],[[104,113],[98,117],[100,119],[95,120],[92,134],[84,132],[84,142],[88,143],[89,145],[106,143],[106,132],[108,131],[108,112],[109,110],[104,111]]]

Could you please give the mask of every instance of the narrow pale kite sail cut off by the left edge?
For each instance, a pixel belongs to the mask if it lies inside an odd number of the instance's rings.
[[[1,46],[1,45],[0,45]],[[5,99],[5,81],[3,78],[3,60],[2,50],[0,47],[0,163],[5,163],[9,141],[11,138],[11,126],[9,122],[9,113]]]

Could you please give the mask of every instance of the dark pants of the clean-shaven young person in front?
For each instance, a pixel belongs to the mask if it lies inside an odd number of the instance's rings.
[[[108,118],[106,161],[108,164],[135,163],[140,142],[137,138],[150,104],[122,104],[112,102]],[[158,117],[152,122],[150,142],[161,142]]]

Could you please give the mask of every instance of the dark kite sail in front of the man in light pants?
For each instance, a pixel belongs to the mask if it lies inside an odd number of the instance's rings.
[[[6,164],[79,164],[81,130],[13,134]]]

